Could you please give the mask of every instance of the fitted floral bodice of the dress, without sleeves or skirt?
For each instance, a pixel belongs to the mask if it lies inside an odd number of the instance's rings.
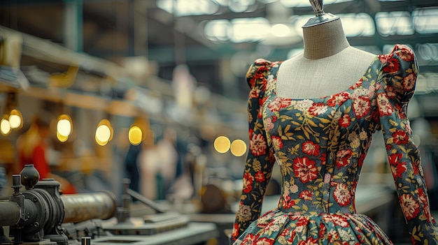
[[[367,73],[379,69],[375,61]],[[283,176],[278,207],[299,213],[354,213],[360,169],[379,125],[364,119],[375,110],[361,107],[372,101],[376,106],[375,82],[361,79],[323,98],[282,98],[276,96],[280,66],[270,70],[262,105],[267,142]]]

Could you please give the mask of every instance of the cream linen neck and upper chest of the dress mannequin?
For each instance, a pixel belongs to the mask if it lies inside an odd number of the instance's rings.
[[[341,20],[304,27],[304,52],[281,64],[276,95],[320,98],[337,94],[358,82],[376,55],[351,47]]]

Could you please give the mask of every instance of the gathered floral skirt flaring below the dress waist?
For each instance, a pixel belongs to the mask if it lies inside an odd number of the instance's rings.
[[[273,209],[250,224],[233,245],[393,244],[364,214],[290,214]]]

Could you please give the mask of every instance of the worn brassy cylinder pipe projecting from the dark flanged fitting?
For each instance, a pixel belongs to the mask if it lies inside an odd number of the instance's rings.
[[[113,193],[102,191],[61,195],[64,203],[63,223],[78,223],[92,218],[108,219],[114,216],[118,201]]]

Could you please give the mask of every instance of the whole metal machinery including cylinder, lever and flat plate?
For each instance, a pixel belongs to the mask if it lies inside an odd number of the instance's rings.
[[[67,195],[59,192],[58,181],[38,179],[34,165],[25,165],[20,175],[13,175],[13,194],[0,201],[0,244],[187,245],[203,244],[218,235],[213,223],[192,223],[176,211],[162,210],[129,189],[129,179],[125,179],[121,207],[111,192]],[[132,198],[155,214],[132,217]],[[8,234],[3,228],[8,228]]]

